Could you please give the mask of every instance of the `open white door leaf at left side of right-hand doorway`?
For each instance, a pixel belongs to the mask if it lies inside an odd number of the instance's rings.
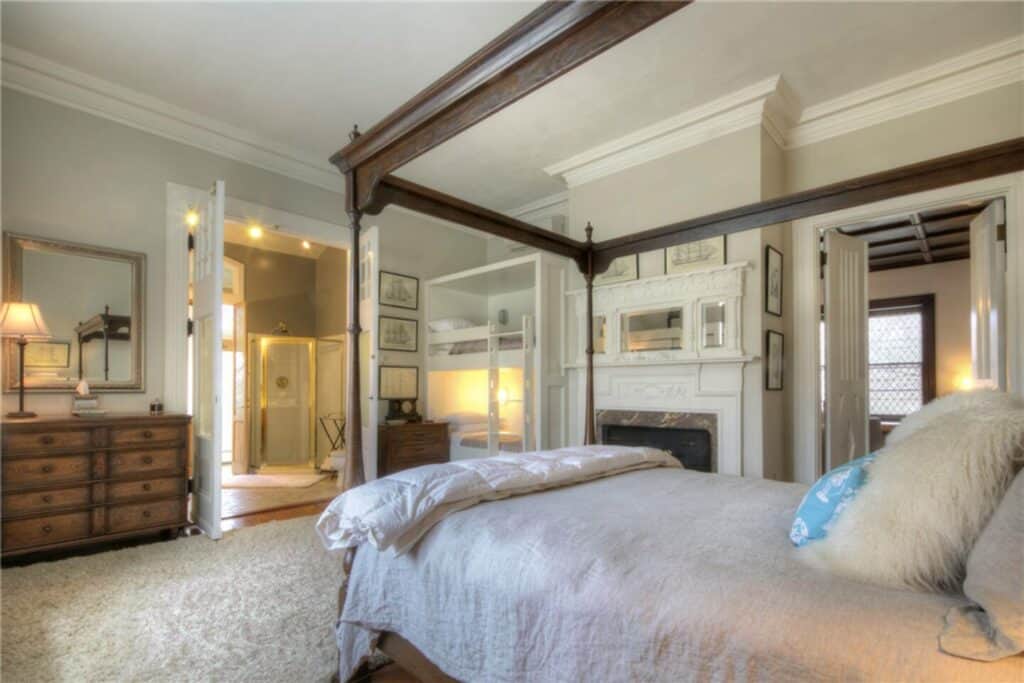
[[[867,243],[825,233],[825,470],[867,454]]]

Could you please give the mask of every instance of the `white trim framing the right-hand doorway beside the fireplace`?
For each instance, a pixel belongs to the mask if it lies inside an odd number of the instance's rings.
[[[794,251],[794,478],[820,475],[818,390],[818,239],[821,232],[862,221],[961,202],[1007,202],[1007,361],[1010,390],[1024,393],[1024,172],[975,180],[866,204],[793,223]]]

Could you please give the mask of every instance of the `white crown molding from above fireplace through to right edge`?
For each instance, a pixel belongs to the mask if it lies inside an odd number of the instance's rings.
[[[793,150],[1021,81],[1024,36],[804,109],[773,76],[544,170],[573,187],[757,125]]]

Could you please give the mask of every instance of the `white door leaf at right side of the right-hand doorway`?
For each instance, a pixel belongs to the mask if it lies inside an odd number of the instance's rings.
[[[971,367],[976,386],[1007,388],[1006,223],[1002,200],[971,221]]]

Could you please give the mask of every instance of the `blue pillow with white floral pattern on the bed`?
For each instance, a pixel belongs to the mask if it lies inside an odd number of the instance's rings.
[[[797,508],[790,541],[798,548],[828,535],[843,509],[867,482],[867,470],[877,454],[840,465],[814,482]]]

